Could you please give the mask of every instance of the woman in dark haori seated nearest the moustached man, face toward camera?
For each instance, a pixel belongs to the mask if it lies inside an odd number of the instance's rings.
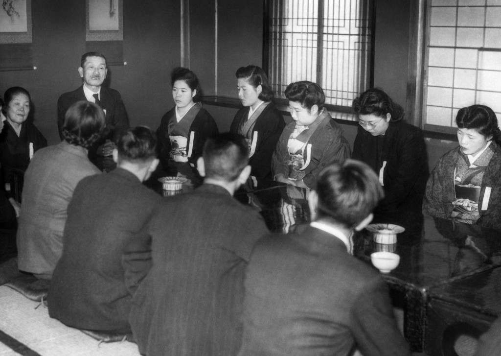
[[[192,180],[197,177],[196,160],[202,155],[207,137],[218,133],[212,116],[194,102],[198,78],[187,68],[171,74],[172,98],[176,106],[162,117],[157,129],[159,158],[163,169],[173,168]]]

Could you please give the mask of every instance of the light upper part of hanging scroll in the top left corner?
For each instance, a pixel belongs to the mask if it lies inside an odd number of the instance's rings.
[[[32,43],[31,0],[2,0],[0,44]]]

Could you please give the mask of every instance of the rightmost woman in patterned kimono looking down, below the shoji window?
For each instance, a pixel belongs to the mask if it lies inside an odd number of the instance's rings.
[[[481,227],[501,229],[501,133],[485,105],[457,112],[459,146],[438,160],[426,184],[423,211]]]

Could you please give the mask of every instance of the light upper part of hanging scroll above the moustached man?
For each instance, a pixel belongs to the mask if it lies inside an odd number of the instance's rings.
[[[86,0],[85,40],[123,41],[123,0]]]

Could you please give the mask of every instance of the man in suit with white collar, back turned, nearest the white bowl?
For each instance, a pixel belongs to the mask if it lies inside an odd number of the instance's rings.
[[[309,197],[312,223],[256,244],[245,277],[239,356],[410,355],[385,282],[350,252],[383,197],[365,163],[334,163]]]

